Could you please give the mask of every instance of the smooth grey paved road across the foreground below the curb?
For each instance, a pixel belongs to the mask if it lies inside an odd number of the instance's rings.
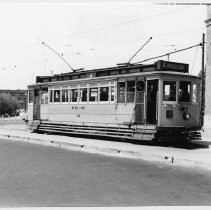
[[[211,205],[211,172],[0,140],[0,207]]]

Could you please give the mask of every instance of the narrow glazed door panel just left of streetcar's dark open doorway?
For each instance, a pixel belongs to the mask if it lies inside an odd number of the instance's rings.
[[[145,82],[138,80],[136,82],[136,106],[135,106],[135,119],[136,124],[144,123],[144,101],[145,101]]]

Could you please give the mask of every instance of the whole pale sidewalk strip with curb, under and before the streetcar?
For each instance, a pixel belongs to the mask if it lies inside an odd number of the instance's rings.
[[[202,133],[207,148],[182,149],[135,145],[124,142],[31,133],[24,125],[0,126],[0,139],[25,141],[63,149],[98,153],[119,158],[143,159],[161,164],[211,170],[211,128]]]

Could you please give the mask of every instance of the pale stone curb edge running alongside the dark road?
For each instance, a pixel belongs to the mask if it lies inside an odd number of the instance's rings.
[[[150,161],[150,162],[157,162],[163,165],[183,166],[183,167],[211,170],[211,163],[196,161],[196,160],[191,160],[191,159],[182,159],[182,158],[172,157],[169,155],[141,153],[141,152],[119,150],[119,149],[113,149],[113,148],[101,148],[97,146],[87,146],[84,144],[74,144],[74,143],[68,143],[68,142],[42,140],[41,138],[22,137],[22,136],[7,135],[7,134],[0,134],[0,138],[4,140],[21,141],[21,142],[28,142],[28,143],[39,144],[39,145],[44,145],[44,146],[56,147],[56,148],[61,148],[65,150],[87,152],[87,153],[92,153],[92,154],[101,154],[101,155],[110,156],[110,157],[112,156],[116,158],[145,160],[145,161]]]

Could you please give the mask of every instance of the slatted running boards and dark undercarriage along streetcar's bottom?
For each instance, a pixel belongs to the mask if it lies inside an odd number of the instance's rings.
[[[65,135],[91,135],[99,137],[112,137],[141,141],[192,141],[201,140],[198,128],[188,127],[157,127],[140,125],[87,125],[85,123],[60,123],[34,121],[31,129],[35,132],[65,134]]]

